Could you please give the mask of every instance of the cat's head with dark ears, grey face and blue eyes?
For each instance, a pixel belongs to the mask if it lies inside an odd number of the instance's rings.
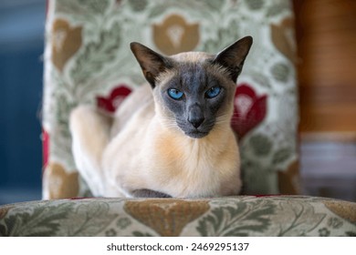
[[[251,45],[252,37],[246,36],[216,55],[162,56],[139,43],[131,43],[131,50],[153,88],[163,125],[204,138],[213,128],[230,125],[236,79]]]

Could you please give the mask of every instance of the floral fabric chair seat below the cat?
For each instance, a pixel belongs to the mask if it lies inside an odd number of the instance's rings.
[[[293,196],[44,200],[0,207],[0,236],[355,236],[355,211]]]

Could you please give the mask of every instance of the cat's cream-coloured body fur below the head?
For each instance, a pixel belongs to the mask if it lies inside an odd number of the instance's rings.
[[[167,127],[149,86],[136,89],[115,120],[111,126],[108,117],[87,106],[70,116],[74,158],[93,195],[131,197],[135,189],[152,189],[200,198],[241,189],[239,153],[228,121],[204,138],[189,138],[173,123]]]

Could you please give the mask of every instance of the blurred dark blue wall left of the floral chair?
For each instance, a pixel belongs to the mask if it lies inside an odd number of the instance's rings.
[[[45,12],[45,1],[0,1],[0,204],[40,199]]]

